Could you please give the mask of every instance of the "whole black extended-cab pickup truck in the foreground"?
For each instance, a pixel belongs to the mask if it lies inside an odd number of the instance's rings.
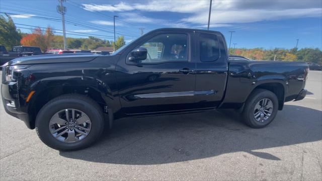
[[[3,66],[1,92],[6,112],[45,144],[76,150],[125,116],[235,109],[262,128],[305,97],[307,73],[302,62],[229,62],[221,33],[167,28],[112,55],[16,58]]]

